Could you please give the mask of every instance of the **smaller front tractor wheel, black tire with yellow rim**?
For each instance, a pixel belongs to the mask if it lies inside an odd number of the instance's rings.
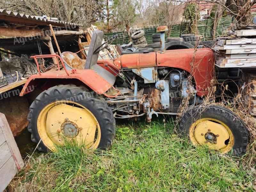
[[[206,144],[210,149],[232,156],[243,156],[249,143],[243,121],[218,105],[189,109],[181,119],[180,132],[188,135],[195,146]]]

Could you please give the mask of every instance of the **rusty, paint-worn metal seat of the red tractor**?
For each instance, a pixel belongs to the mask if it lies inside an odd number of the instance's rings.
[[[82,60],[76,53],[63,52],[61,58],[65,64],[67,70],[71,69],[84,69],[85,61]]]

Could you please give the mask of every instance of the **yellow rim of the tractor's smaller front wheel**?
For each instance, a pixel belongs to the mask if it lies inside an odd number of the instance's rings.
[[[228,153],[234,146],[234,135],[223,122],[213,118],[202,118],[189,129],[193,145],[208,145],[210,149]]]

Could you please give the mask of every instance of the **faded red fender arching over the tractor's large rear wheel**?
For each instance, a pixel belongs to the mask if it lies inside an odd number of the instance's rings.
[[[86,85],[91,88],[94,92],[99,95],[108,91],[112,84],[109,84],[104,78],[102,78],[99,74],[91,69],[79,69],[68,71],[69,75],[65,72],[65,70],[60,71],[48,71],[41,74],[32,75],[28,78],[26,84],[22,88],[20,92],[20,96],[23,96],[26,93],[32,92],[33,87],[40,83],[43,79],[51,79],[52,82],[54,79],[62,79],[68,81],[72,81],[72,79],[79,80],[81,84]],[[50,81],[51,82],[51,81]],[[53,84],[52,86],[54,86]]]

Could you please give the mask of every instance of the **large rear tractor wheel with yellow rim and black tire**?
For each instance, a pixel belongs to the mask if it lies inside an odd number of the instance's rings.
[[[103,150],[112,145],[116,132],[112,110],[84,87],[54,86],[39,94],[29,110],[28,131],[40,151],[54,151],[67,141]]]

